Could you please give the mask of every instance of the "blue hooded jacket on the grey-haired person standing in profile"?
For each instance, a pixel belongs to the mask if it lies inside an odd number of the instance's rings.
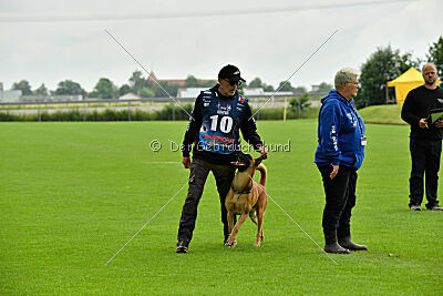
[[[321,99],[318,119],[317,166],[347,165],[359,170],[364,159],[364,122],[353,104],[334,89]],[[364,141],[365,142],[365,141]]]

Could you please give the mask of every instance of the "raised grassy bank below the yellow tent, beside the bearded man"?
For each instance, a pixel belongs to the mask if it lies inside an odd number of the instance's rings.
[[[367,123],[406,124],[401,118],[403,105],[371,105],[359,112]]]

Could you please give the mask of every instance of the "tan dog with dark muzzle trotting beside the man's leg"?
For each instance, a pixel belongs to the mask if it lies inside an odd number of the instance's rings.
[[[257,238],[255,246],[260,246],[264,241],[262,223],[266,205],[268,204],[268,195],[265,191],[266,166],[261,163],[262,156],[253,159],[249,154],[239,154],[239,162],[233,163],[237,169],[233,184],[226,195],[225,206],[228,212],[229,238],[230,247],[236,245],[236,236],[243,223],[249,216],[257,224]],[[260,182],[254,181],[256,170],[260,171]],[[234,227],[234,215],[241,215]]]

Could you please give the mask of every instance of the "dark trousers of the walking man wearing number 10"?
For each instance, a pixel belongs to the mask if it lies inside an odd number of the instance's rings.
[[[202,160],[194,160],[190,164],[189,190],[185,204],[183,205],[177,235],[178,242],[183,242],[185,245],[189,244],[193,238],[195,221],[197,218],[197,206],[209,171],[212,171],[215,176],[218,195],[220,197],[225,241],[229,236],[225,200],[233,183],[235,169],[230,165],[219,165]]]

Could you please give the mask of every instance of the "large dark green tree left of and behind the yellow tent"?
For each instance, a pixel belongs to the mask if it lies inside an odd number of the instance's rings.
[[[361,89],[356,98],[358,108],[387,102],[387,82],[401,75],[409,68],[416,68],[419,59],[411,53],[400,54],[391,45],[378,48],[361,67]]]

